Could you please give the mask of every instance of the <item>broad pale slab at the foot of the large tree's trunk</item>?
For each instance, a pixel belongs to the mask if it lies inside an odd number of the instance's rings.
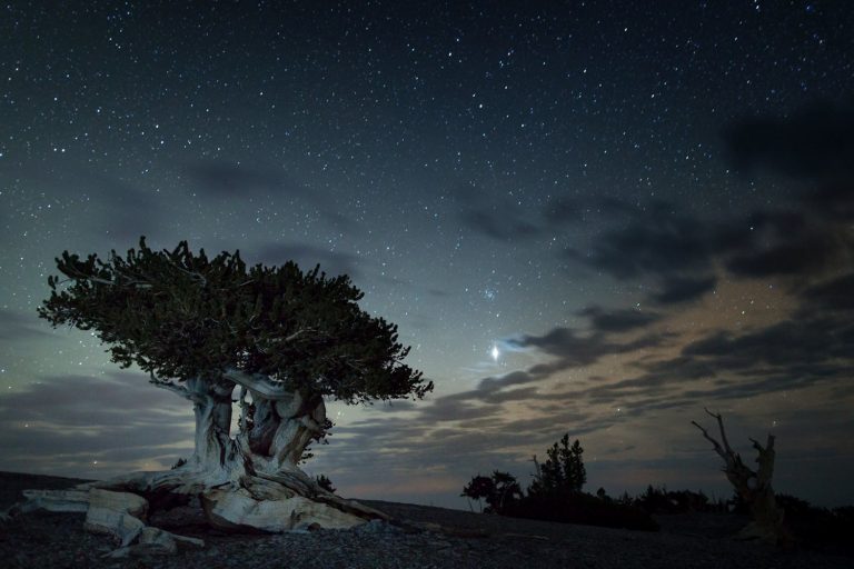
[[[320,527],[352,528],[365,519],[301,496],[279,500],[256,500],[245,489],[212,490],[202,497],[208,521],[221,529],[255,528],[279,532]]]

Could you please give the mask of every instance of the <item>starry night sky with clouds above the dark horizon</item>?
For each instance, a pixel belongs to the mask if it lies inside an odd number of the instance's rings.
[[[854,502],[854,10],[841,1],[3,2],[0,470],[191,452],[190,405],[36,309],[62,250],[189,240],[349,273],[424,401],[307,465],[466,508],[582,441],[586,489],[731,496],[691,425]]]

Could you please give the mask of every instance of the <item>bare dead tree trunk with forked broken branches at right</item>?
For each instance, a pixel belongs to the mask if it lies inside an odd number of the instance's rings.
[[[724,473],[726,479],[735,488],[738,496],[744,500],[751,510],[751,517],[753,518],[751,523],[747,525],[738,536],[743,539],[761,539],[776,545],[785,545],[791,541],[791,535],[783,526],[783,509],[777,506],[776,498],[774,496],[774,488],[772,487],[771,479],[774,473],[774,436],[768,435],[765,447],[759,445],[756,440],[751,439],[753,447],[758,452],[756,462],[759,463],[757,471],[748,468],[743,461],[742,457],[733,451],[729,447],[729,441],[726,439],[726,432],[724,431],[724,421],[719,413],[713,413],[708,409],[706,412],[717,420],[717,426],[721,431],[721,442],[716,441],[708,435],[696,421],[691,421],[697,429],[703,432],[703,437],[706,438],[714,446],[715,452],[724,459]]]

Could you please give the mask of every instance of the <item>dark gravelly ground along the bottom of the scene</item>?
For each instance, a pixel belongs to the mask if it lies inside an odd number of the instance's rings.
[[[0,509],[27,488],[61,489],[79,480],[0,472]],[[0,527],[0,568],[845,568],[854,559],[830,552],[736,541],[743,519],[719,513],[664,516],[658,532],[539,522],[406,503],[364,501],[413,521],[435,522],[459,537],[406,532],[371,522],[355,530],[228,535],[208,529],[192,510],[177,509],[150,523],[205,540],[173,556],[105,559],[115,546],[82,529],[79,513],[29,513]]]

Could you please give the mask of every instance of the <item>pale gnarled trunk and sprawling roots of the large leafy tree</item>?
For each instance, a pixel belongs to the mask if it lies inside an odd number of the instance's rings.
[[[224,529],[276,532],[349,528],[370,519],[388,519],[383,512],[328,492],[299,469],[306,447],[326,432],[326,407],[320,396],[304,396],[269,378],[238,370],[229,370],[217,380],[193,378],[178,385],[152,377],[151,382],[193,403],[196,439],[193,455],[186,465],[81,485],[73,496],[67,491],[51,496],[41,492],[37,503],[13,511],[62,511],[72,506],[75,511],[88,509],[91,517],[100,511],[92,509],[93,497],[102,496],[99,492],[136,495],[146,502],[137,509],[141,513],[122,510],[106,517],[98,515],[99,520],[117,520],[108,531],[120,538],[122,547],[133,539],[142,543],[143,537],[151,533],[143,529],[152,510],[186,503],[188,497],[198,497],[208,521]],[[232,436],[231,393],[238,385],[240,420]],[[129,523],[133,529],[130,540]]]

